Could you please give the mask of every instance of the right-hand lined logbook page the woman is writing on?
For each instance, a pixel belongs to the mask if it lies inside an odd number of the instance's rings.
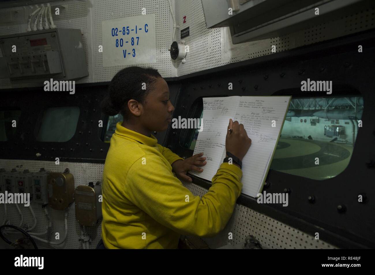
[[[241,97],[234,120],[244,125],[251,146],[242,160],[242,193],[256,197],[263,186],[289,106],[285,97]],[[276,127],[272,127],[275,120]]]

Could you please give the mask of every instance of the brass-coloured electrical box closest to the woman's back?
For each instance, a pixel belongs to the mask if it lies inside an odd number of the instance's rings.
[[[95,185],[80,185],[75,189],[75,218],[84,226],[94,226],[102,217],[102,205],[99,196],[102,195],[102,186],[98,181]]]

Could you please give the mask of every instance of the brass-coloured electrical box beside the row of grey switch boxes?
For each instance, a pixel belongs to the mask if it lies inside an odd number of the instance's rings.
[[[69,172],[51,172],[47,176],[48,205],[55,210],[65,210],[74,202],[74,178]]]

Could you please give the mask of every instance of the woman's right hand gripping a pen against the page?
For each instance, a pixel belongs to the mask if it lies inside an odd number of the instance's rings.
[[[228,130],[229,129],[232,129],[232,131],[226,132],[226,151],[232,153],[242,161],[250,148],[251,139],[248,137],[243,124],[239,124],[238,121],[233,122],[232,119],[229,119]]]

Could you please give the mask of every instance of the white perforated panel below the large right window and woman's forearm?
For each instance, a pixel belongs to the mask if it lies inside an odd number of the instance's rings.
[[[195,196],[202,197],[208,190],[193,184],[183,183]],[[233,233],[233,239],[228,239],[228,233]],[[253,235],[260,241],[262,247],[270,249],[298,249],[298,248],[337,248],[314,236],[306,234],[294,227],[288,226],[278,220],[258,213],[243,205],[236,205],[233,216],[225,229],[214,238],[203,240],[210,248],[217,248],[230,243],[232,245],[245,242],[246,236]]]

